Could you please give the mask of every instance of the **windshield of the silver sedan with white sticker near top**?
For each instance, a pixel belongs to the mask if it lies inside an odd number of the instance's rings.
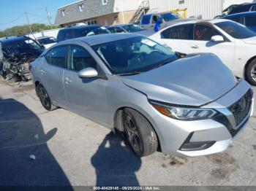
[[[97,44],[92,47],[112,74],[133,75],[176,61],[167,47],[143,36]]]

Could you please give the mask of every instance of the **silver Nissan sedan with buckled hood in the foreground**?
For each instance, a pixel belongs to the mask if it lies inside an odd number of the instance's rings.
[[[181,58],[138,34],[61,42],[31,73],[45,109],[62,107],[124,132],[140,157],[222,152],[252,114],[250,85],[217,56]]]

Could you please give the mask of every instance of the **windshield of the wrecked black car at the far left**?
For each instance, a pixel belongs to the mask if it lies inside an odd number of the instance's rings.
[[[12,42],[4,43],[4,48],[7,50],[23,50],[23,49],[34,49],[42,50],[42,47],[37,44],[33,39],[21,39]]]

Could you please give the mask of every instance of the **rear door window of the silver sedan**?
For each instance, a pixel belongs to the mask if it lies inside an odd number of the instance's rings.
[[[66,47],[55,47],[46,53],[45,59],[53,66],[65,67]]]

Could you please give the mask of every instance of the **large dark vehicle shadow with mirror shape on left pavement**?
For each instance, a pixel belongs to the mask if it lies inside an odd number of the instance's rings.
[[[53,128],[45,133],[37,114],[20,102],[0,98],[0,185],[65,186],[72,190],[48,148],[47,141],[56,132]]]

